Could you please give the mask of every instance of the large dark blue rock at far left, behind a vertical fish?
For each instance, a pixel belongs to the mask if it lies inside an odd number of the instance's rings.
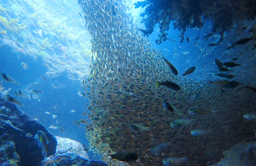
[[[20,157],[20,166],[39,166],[43,160],[42,149],[39,149],[38,142],[32,137],[38,130],[45,132],[48,138],[47,156],[55,153],[56,138],[41,123],[25,114],[15,104],[5,100],[2,94],[0,107],[0,142],[14,143],[15,152]],[[16,153],[13,153],[9,161],[17,159]]]

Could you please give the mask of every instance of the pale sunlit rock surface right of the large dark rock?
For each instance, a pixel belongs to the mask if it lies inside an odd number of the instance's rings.
[[[56,136],[56,139],[57,139],[58,144],[57,144],[55,155],[74,152],[80,157],[89,159],[89,157],[87,156],[86,152],[84,151],[84,147],[83,147],[83,145],[81,145],[81,143],[76,142],[72,139],[62,138],[62,137],[58,137],[58,136]]]

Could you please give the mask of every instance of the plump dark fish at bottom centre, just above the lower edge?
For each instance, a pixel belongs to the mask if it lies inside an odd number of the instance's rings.
[[[129,150],[121,150],[115,154],[110,155],[112,159],[118,159],[119,161],[131,162],[138,159],[138,154]]]

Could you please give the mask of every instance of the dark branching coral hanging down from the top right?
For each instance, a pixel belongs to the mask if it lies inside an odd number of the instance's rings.
[[[154,31],[154,26],[159,24],[160,35],[156,43],[166,41],[169,24],[173,21],[173,27],[181,31],[180,42],[184,40],[187,28],[202,28],[205,20],[213,22],[213,32],[223,33],[242,20],[254,19],[256,4],[252,0],[144,0],[134,3],[135,8],[146,7],[140,16],[143,18],[148,34]],[[204,21],[202,19],[204,18]]]

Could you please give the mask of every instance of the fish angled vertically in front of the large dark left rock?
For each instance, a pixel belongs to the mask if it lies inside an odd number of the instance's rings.
[[[43,159],[45,159],[47,157],[47,151],[48,151],[48,138],[46,136],[46,133],[41,130],[37,131],[35,135],[35,139],[38,142],[38,147],[42,149],[42,156],[43,156]]]

